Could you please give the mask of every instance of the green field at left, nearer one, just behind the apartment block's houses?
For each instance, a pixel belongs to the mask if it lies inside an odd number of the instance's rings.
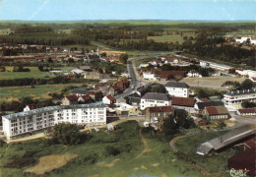
[[[87,84],[87,83],[85,83]],[[32,88],[28,87],[6,87],[0,88],[0,102],[19,100],[19,98],[30,96],[32,99],[47,99],[51,98],[49,93],[60,93],[62,89],[69,86],[81,87],[84,84],[69,84],[69,85],[43,85],[35,86]]]

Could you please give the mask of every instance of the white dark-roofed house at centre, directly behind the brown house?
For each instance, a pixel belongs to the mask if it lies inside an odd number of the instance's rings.
[[[141,110],[144,110],[147,107],[167,106],[167,105],[170,105],[170,97],[165,93],[147,92],[141,98],[140,108]]]

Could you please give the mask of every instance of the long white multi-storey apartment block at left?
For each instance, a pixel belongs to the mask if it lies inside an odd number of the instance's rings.
[[[8,140],[62,122],[104,125],[106,106],[105,104],[57,105],[2,116],[3,134]]]

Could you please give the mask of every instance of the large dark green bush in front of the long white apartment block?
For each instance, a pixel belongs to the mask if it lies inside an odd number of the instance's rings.
[[[54,143],[63,145],[76,145],[80,142],[79,127],[76,124],[56,124],[50,136]]]

